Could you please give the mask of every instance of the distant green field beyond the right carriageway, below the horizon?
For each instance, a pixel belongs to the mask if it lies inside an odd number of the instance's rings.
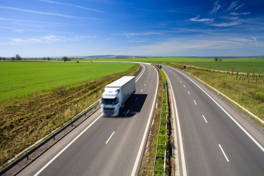
[[[253,72],[253,65],[255,65],[255,72],[264,72],[264,58],[223,58],[222,62],[214,61],[214,58],[191,58],[191,57],[152,57],[152,58],[132,58],[132,59],[93,59],[95,61],[139,61],[139,62],[152,62],[166,64],[177,63],[194,65],[198,67],[204,67],[218,70],[232,71],[234,65],[234,71],[238,72]]]

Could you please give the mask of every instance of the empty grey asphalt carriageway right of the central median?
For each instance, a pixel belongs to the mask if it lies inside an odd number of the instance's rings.
[[[181,175],[263,176],[261,128],[188,74],[167,66],[163,70],[179,116]]]

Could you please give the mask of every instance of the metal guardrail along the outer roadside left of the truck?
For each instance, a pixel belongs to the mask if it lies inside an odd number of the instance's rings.
[[[137,76],[142,70],[142,66],[140,65],[137,73],[135,74],[135,76]],[[93,110],[98,104],[100,104],[100,101],[98,103],[96,103],[94,106],[92,106],[90,109],[88,109],[87,111],[83,112],[82,114],[80,114],[78,117],[76,117],[74,120],[72,120],[71,122],[69,122],[67,125],[65,125],[64,127],[62,127],[61,129],[59,129],[57,132],[55,132],[54,134],[52,134],[51,136],[49,136],[47,139],[45,139],[44,141],[42,141],[40,144],[38,144],[37,146],[35,146],[34,148],[32,148],[31,150],[27,151],[25,154],[23,154],[22,156],[20,156],[18,159],[16,159],[15,161],[13,161],[11,164],[9,164],[8,166],[6,166],[5,168],[3,168],[2,170],[0,170],[0,175],[6,173],[9,169],[11,169],[12,167],[14,167],[15,165],[17,165],[19,162],[21,162],[23,159],[29,157],[30,154],[32,154],[33,152],[35,152],[37,149],[39,149],[41,146],[43,146],[44,144],[46,144],[48,141],[50,141],[52,138],[55,139],[55,136],[57,136],[59,133],[61,133],[63,130],[65,130],[67,127],[69,127],[70,125],[72,125],[74,122],[76,122],[77,120],[79,120],[81,117],[86,116],[86,113],[90,112],[91,110]],[[96,111],[95,111],[96,112]],[[90,116],[92,116],[95,112],[93,112]],[[89,117],[90,117],[89,116]],[[88,118],[88,117],[87,117]],[[86,120],[86,118],[84,119]],[[83,121],[84,121],[83,120]],[[83,122],[82,121],[82,122]],[[81,122],[81,123],[82,123]],[[78,124],[79,125],[79,124]],[[77,127],[77,126],[76,126]],[[76,128],[75,127],[75,128]],[[67,135],[68,133],[66,133]],[[45,150],[46,151],[46,150]],[[44,152],[45,152],[44,151]],[[44,153],[43,152],[43,153]]]

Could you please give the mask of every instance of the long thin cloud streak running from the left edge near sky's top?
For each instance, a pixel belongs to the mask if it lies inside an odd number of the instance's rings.
[[[77,19],[77,20],[84,20],[84,19],[98,20],[96,18],[76,17],[76,16],[63,15],[63,14],[53,14],[53,13],[31,11],[31,10],[26,10],[26,9],[19,9],[19,8],[12,8],[12,7],[5,7],[5,6],[0,6],[0,8],[1,9],[10,9],[10,10],[15,10],[15,11],[21,11],[21,12],[28,12],[28,13],[32,13],[32,14],[50,15],[50,16],[64,17],[64,18]]]

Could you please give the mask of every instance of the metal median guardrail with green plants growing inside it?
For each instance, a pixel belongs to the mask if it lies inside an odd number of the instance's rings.
[[[163,90],[166,91],[166,101],[163,101],[163,98],[164,98],[164,94],[163,94]],[[157,139],[157,147],[156,147],[156,155],[155,155],[155,160],[154,160],[154,168],[153,168],[153,173],[152,175],[155,175],[155,173],[163,173],[163,175],[165,175],[165,167],[166,167],[166,144],[167,144],[167,110],[168,110],[168,102],[167,102],[167,87],[166,87],[166,84],[163,84],[163,89],[162,89],[162,105],[161,105],[161,113],[160,113],[160,121],[159,121],[159,129],[158,129],[158,139]],[[163,103],[166,103],[166,115],[163,116],[162,115],[162,110],[163,110]],[[160,135],[160,125],[161,125],[161,119],[162,118],[166,118],[166,125],[165,125],[165,144],[159,144],[158,141],[159,141],[159,137],[161,136]],[[158,146],[159,145],[165,145],[165,151],[164,151],[164,155],[163,156],[159,156],[157,155],[157,150],[158,150]],[[163,163],[163,169],[162,170],[156,170],[156,160],[158,158],[162,158],[164,159],[164,163]]]

